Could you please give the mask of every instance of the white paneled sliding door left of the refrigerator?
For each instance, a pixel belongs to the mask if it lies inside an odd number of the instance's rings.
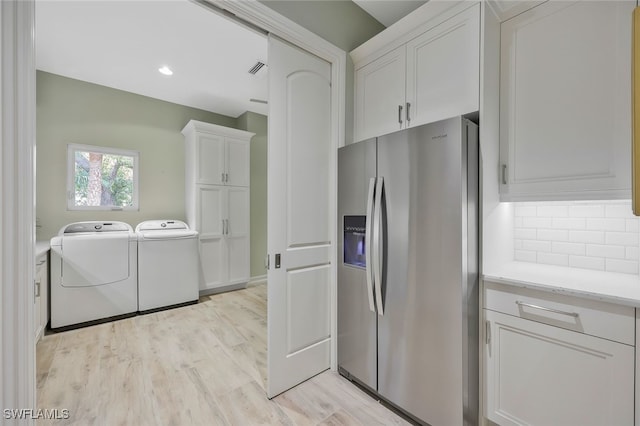
[[[270,36],[270,398],[330,366],[331,146],[330,64]]]

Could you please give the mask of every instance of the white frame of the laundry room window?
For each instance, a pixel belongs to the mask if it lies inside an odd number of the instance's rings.
[[[75,154],[76,152],[99,152],[109,155],[123,155],[133,158],[133,191],[131,206],[76,206],[75,205]],[[95,145],[67,144],[67,210],[137,211],[138,210],[138,168],[140,153],[129,149],[108,148]]]

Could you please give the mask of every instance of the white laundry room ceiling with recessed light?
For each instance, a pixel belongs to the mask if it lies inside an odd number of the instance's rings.
[[[187,0],[36,1],[39,70],[237,117],[267,113],[257,60],[264,35]]]

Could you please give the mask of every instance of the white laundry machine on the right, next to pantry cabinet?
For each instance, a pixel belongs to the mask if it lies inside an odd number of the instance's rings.
[[[198,232],[179,220],[149,220],[138,234],[138,311],[198,302]]]

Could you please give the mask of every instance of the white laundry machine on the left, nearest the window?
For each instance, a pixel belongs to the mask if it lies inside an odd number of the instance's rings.
[[[51,239],[51,328],[138,309],[137,239],[124,222],[76,222]]]

